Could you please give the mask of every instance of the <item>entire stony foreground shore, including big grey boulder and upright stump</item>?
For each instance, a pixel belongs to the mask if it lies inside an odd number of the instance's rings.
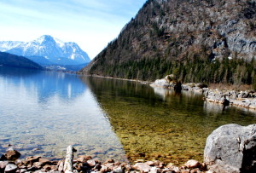
[[[134,164],[108,159],[102,163],[88,155],[74,158],[76,149],[67,147],[66,159],[49,160],[40,156],[19,159],[20,153],[9,147],[0,159],[3,173],[247,173],[256,171],[256,124],[241,126],[226,124],[213,130],[207,137],[204,163],[190,159],[182,166],[165,164],[158,160],[137,160]]]

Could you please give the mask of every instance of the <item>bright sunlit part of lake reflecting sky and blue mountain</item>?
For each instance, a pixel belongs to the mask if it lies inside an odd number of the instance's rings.
[[[63,159],[78,154],[125,160],[118,138],[79,76],[0,67],[0,152]]]

